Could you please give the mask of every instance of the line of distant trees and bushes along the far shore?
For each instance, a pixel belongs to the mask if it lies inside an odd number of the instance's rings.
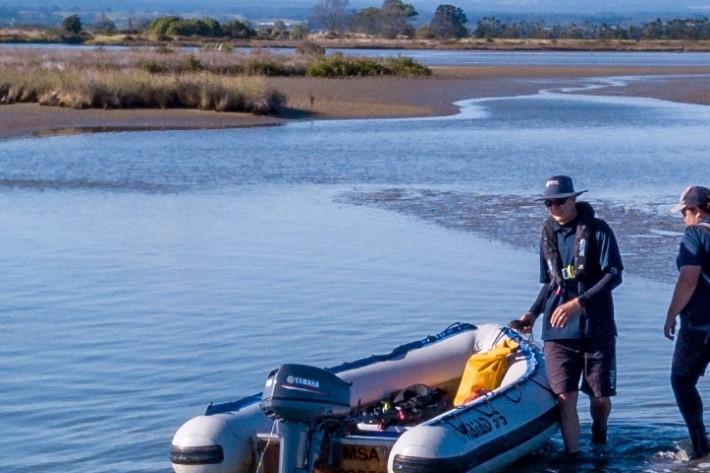
[[[370,6],[361,10],[350,8],[349,0],[315,0],[313,15],[309,21],[274,21],[254,25],[248,20],[220,22],[212,18],[181,18],[163,16],[152,20],[127,19],[120,23],[110,17],[111,12],[101,13],[82,21],[78,14],[61,17],[58,7],[45,8],[38,12],[39,23],[51,18],[61,29],[46,28],[44,38],[30,41],[83,42],[91,35],[133,35],[140,39],[151,37],[159,41],[174,38],[257,39],[257,40],[303,40],[312,32],[325,32],[331,37],[366,37],[382,39],[581,39],[581,40],[710,40],[710,20],[702,18],[677,18],[667,22],[661,18],[644,24],[612,24],[611,22],[550,24],[535,20],[501,20],[483,16],[475,23],[469,21],[464,11],[451,4],[439,5],[431,21],[418,21],[417,9],[402,0],[383,0],[379,7]],[[15,8],[0,6],[0,23],[17,18],[21,13]],[[59,18],[58,18],[59,16]],[[27,40],[19,33],[0,35],[3,42]]]

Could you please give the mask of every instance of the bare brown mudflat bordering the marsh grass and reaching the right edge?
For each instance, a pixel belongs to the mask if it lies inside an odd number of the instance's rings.
[[[0,139],[125,130],[274,126],[288,120],[449,115],[454,102],[528,95],[541,89],[614,76],[668,76],[605,87],[601,95],[629,95],[710,105],[710,66],[699,67],[432,67],[431,77],[269,78],[288,98],[282,117],[187,109],[74,110],[36,104],[0,105]]]

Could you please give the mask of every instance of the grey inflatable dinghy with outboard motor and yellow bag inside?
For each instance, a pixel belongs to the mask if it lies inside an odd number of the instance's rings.
[[[332,368],[282,365],[263,393],[183,424],[170,460],[176,473],[490,473],[558,428],[540,348],[503,325],[457,323]]]

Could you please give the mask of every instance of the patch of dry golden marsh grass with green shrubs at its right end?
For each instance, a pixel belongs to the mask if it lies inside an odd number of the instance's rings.
[[[0,49],[0,103],[71,108],[197,108],[278,114],[265,77],[429,75],[409,58],[264,51]]]

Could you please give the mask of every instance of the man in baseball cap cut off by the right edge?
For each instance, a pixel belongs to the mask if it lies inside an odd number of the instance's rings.
[[[703,423],[703,401],[696,387],[710,362],[710,190],[691,186],[671,212],[682,212],[685,233],[676,265],[680,274],[663,332],[673,340],[676,316],[680,330],[673,353],[671,386],[693,442],[691,459],[710,453]]]

